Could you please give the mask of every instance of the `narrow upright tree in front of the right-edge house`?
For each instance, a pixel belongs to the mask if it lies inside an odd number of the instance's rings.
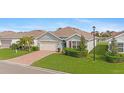
[[[112,55],[118,54],[118,47],[117,47],[117,41],[115,38],[112,38],[111,44],[110,44],[110,50]]]

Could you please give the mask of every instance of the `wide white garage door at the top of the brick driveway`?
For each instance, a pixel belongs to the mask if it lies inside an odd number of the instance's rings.
[[[57,42],[41,42],[40,50],[50,50],[50,51],[57,51]]]

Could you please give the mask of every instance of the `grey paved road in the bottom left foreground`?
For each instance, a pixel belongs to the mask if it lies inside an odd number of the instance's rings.
[[[64,74],[54,70],[36,68],[17,63],[0,61],[0,74]]]

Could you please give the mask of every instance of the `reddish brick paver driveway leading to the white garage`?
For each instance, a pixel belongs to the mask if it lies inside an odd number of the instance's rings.
[[[50,54],[53,54],[55,52],[53,51],[47,51],[47,50],[41,50],[41,51],[36,51],[30,54],[26,54],[20,57],[12,58],[9,59],[8,61],[10,62],[16,62],[16,63],[21,63],[21,64],[26,64],[26,65],[31,65],[33,62],[46,57]]]

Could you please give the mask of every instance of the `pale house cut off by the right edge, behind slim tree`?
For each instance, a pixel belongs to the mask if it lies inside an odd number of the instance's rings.
[[[116,34],[113,36],[118,45],[118,52],[124,53],[124,32],[120,32],[119,34]],[[111,44],[112,38],[108,40],[109,43],[109,50],[110,50],[110,44]]]

